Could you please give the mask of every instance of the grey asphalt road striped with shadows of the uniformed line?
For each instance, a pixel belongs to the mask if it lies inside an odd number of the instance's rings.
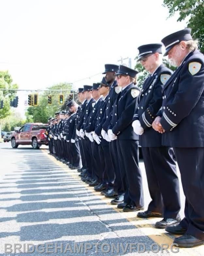
[[[147,208],[150,197],[142,161],[140,167]],[[0,143],[0,178],[0,255],[28,254],[24,244],[35,246],[30,246],[30,251],[35,250],[29,255],[45,254],[46,246],[57,255],[175,255],[176,248],[174,253],[170,250],[174,236],[154,228],[160,218],[141,220],[136,212],[124,213],[110,205],[110,199],[81,182],[77,171],[48,155],[46,146],[12,149],[10,143]],[[183,216],[182,187],[180,193]],[[145,245],[145,252],[138,253],[138,243],[141,251]],[[167,243],[169,253],[161,249],[151,252],[154,243]],[[10,244],[7,248],[12,252],[5,253],[5,244]],[[21,244],[25,253],[14,253],[14,244]],[[61,246],[62,252],[58,249],[55,253],[56,246]],[[131,246],[136,247],[132,252]],[[203,251],[204,246],[180,248],[176,255],[203,255]]]

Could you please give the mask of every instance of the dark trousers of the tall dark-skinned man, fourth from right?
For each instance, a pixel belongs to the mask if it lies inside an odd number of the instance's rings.
[[[109,149],[110,149],[113,170],[115,172],[115,180],[114,180],[113,188],[118,193],[118,195],[122,195],[124,194],[124,186],[121,179],[119,160],[118,160],[118,157],[116,157],[118,155],[117,140],[113,140],[109,143]]]

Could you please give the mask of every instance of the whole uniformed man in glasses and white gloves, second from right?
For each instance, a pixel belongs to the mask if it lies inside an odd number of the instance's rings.
[[[162,134],[152,128],[152,123],[162,106],[162,89],[172,71],[162,64],[162,44],[142,45],[138,50],[138,61],[150,75],[143,84],[132,126],[140,135],[151,202],[148,209],[137,216],[163,216],[164,219],[156,222],[155,227],[165,228],[180,221],[179,180],[174,151],[170,147],[162,147]]]

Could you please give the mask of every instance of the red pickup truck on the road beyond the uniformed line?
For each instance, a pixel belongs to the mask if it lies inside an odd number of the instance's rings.
[[[27,123],[19,130],[11,134],[12,148],[18,148],[18,145],[32,145],[34,149],[39,149],[41,145],[48,145],[45,135],[47,124]]]

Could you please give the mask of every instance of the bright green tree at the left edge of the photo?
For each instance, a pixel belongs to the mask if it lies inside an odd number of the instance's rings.
[[[0,100],[4,101],[4,108],[0,109],[0,119],[5,118],[10,114],[10,100],[16,96],[16,90],[9,91],[8,89],[18,89],[17,84],[12,84],[11,75],[7,71],[0,71]]]

